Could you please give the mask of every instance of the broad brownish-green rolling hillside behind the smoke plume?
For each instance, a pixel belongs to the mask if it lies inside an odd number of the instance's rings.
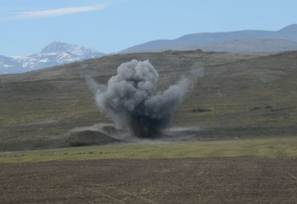
[[[148,59],[156,67],[158,91],[189,70],[204,68],[205,76],[178,108],[173,124],[200,128],[198,133],[186,131],[193,139],[296,132],[297,52],[130,53],[1,75],[0,151],[63,147],[75,129],[99,129],[112,122],[96,108],[85,77],[106,83],[118,65],[132,59]]]

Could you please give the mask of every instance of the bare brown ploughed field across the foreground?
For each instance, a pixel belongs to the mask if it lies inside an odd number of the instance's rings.
[[[0,165],[0,203],[297,203],[297,160],[208,158]]]

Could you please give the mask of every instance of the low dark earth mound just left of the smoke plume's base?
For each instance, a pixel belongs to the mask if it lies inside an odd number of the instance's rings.
[[[119,140],[103,132],[84,130],[81,132],[72,132],[68,136],[68,139],[65,140],[64,146],[93,146],[114,142],[119,142]]]

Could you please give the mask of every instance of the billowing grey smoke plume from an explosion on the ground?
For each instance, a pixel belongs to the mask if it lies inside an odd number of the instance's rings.
[[[158,72],[148,60],[132,60],[118,67],[118,75],[111,77],[107,86],[88,82],[96,90],[97,106],[115,125],[130,129],[135,136],[153,138],[171,124],[174,111],[194,87],[198,75],[203,75],[202,69],[182,77],[163,94],[156,94]]]

